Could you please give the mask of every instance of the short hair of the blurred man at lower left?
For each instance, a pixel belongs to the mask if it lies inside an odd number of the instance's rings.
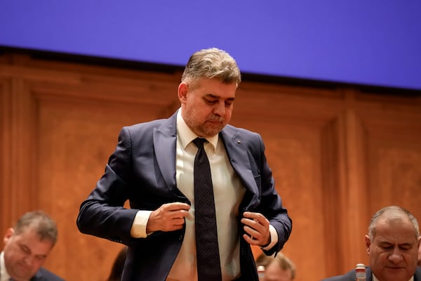
[[[34,229],[40,240],[50,240],[53,245],[57,242],[57,225],[44,211],[30,211],[21,216],[14,226],[13,235],[20,235],[27,228]]]

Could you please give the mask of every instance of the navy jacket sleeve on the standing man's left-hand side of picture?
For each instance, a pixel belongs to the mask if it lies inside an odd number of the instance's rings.
[[[137,210],[126,209],[123,204],[128,200],[128,183],[133,171],[131,158],[130,133],[123,128],[116,150],[105,167],[105,174],[81,204],[76,220],[81,233],[123,244],[130,242],[130,230]]]

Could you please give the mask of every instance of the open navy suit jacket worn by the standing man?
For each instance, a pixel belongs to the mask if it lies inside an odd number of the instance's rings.
[[[155,210],[168,202],[190,204],[175,180],[176,115],[123,127],[105,174],[81,204],[77,225],[82,233],[128,245],[125,281],[165,280],[184,238],[185,228],[156,232],[147,238],[134,239],[130,235],[138,209]],[[279,237],[278,244],[267,251],[273,254],[288,240],[292,222],[274,190],[262,138],[230,125],[225,126],[220,137],[246,189],[239,212],[258,211],[269,219]],[[126,200],[131,209],[123,209]],[[241,275],[244,280],[258,280],[250,245],[242,237],[240,241]]]

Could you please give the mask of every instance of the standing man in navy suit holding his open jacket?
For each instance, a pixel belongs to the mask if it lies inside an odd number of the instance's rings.
[[[180,110],[169,119],[121,129],[77,225],[82,233],[128,246],[122,280],[198,280],[195,138],[207,141],[220,280],[258,280],[250,244],[274,254],[288,240],[292,222],[274,188],[262,138],[228,124],[240,81],[227,52],[198,51],[178,86]],[[123,208],[126,200],[131,209]]]

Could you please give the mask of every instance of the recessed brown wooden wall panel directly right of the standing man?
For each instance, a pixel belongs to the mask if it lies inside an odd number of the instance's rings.
[[[320,261],[326,260],[330,245],[323,238],[330,220],[322,216],[321,147],[323,131],[343,110],[342,93],[302,91],[300,96],[299,89],[286,86],[246,84],[237,95],[232,124],[264,138],[276,190],[293,218],[293,235],[283,252],[297,263],[297,280],[320,280],[326,276]]]

